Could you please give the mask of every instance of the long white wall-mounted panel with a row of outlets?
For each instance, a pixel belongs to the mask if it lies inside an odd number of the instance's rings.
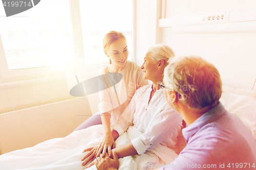
[[[256,8],[164,18],[158,27],[174,27],[174,33],[256,32]]]

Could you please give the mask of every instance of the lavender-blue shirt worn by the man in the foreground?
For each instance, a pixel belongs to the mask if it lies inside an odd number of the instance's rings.
[[[246,114],[246,113],[245,113]],[[219,103],[182,130],[186,147],[162,169],[255,169],[255,137]]]

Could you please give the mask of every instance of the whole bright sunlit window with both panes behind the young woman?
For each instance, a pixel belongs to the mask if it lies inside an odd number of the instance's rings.
[[[2,78],[49,74],[59,71],[53,66],[81,58],[90,71],[98,71],[95,64],[109,62],[102,40],[112,30],[124,34],[128,59],[133,60],[133,0],[44,0],[25,12],[0,17]]]

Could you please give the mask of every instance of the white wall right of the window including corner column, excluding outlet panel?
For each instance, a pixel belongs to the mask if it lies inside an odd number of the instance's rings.
[[[155,43],[165,43],[173,48],[176,56],[199,55],[214,64],[224,85],[252,89],[256,79],[256,32],[173,33],[173,27],[158,28],[162,1],[150,1],[147,8],[142,3],[139,0],[136,4],[136,61],[139,64],[143,62],[148,47]],[[256,8],[256,1],[217,0],[210,3],[204,0],[166,0],[165,17],[251,8]]]

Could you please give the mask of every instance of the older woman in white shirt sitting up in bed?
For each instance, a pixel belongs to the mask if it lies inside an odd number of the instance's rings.
[[[143,154],[163,145],[179,153],[177,135],[181,130],[182,118],[167,105],[163,89],[159,82],[163,80],[163,72],[168,64],[168,59],[174,56],[172,49],[166,45],[156,45],[148,50],[141,69],[143,78],[151,80],[152,85],[145,85],[136,90],[130,104],[119,117],[116,124],[112,125],[112,135],[116,140],[127,131],[130,126],[137,128],[142,134],[130,143],[112,149],[118,158]],[[90,151],[83,158],[82,165],[86,165],[95,158],[95,147],[84,150]],[[93,165],[97,159],[87,167]]]

